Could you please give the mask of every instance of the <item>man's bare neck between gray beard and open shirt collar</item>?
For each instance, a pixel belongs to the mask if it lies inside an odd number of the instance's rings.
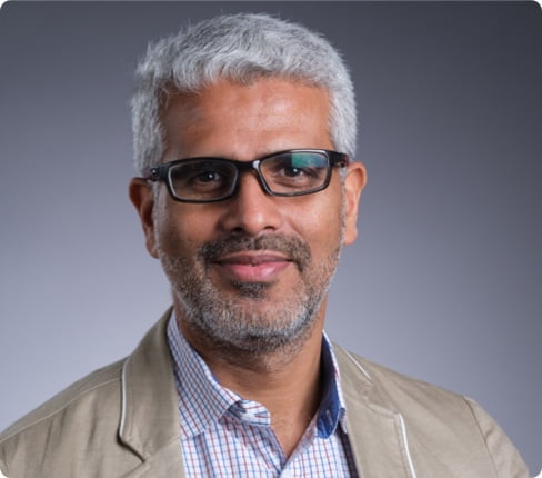
[[[218,381],[243,399],[258,401],[271,414],[271,426],[289,456],[307,430],[321,401],[321,348],[324,307],[313,326],[294,343],[267,353],[211,347],[187,326],[175,308],[179,329]]]

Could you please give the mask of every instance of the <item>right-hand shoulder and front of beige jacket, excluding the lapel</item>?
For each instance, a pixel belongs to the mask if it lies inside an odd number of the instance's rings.
[[[421,475],[529,477],[512,441],[474,400],[341,348],[337,358],[351,400],[404,419],[412,459],[426,471]]]

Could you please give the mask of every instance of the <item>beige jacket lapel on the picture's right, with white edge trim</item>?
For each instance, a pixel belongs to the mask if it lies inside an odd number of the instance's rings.
[[[402,419],[382,405],[371,377],[334,346],[347,404],[347,430],[360,478],[412,478]]]

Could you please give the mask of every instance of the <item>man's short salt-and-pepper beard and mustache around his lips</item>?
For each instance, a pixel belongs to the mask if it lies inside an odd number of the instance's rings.
[[[247,357],[285,348],[294,351],[305,341],[335,272],[341,245],[342,240],[318,267],[307,243],[279,235],[210,241],[200,248],[195,261],[161,249],[159,253],[185,325],[208,347]],[[301,276],[299,290],[269,300],[268,283],[234,283],[237,293],[224,293],[208,278],[210,263],[225,253],[263,249],[283,252],[293,260]]]

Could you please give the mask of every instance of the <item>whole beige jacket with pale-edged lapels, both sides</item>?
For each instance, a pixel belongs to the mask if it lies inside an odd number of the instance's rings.
[[[184,477],[168,316],[127,359],[73,384],[0,435],[1,474]],[[361,478],[529,476],[514,446],[472,400],[339,347],[335,353]]]

